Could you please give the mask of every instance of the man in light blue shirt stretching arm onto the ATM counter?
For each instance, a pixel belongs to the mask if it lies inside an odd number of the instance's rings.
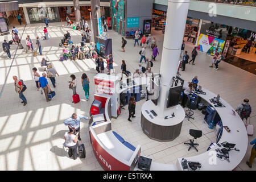
[[[75,131],[76,133],[79,133],[77,135],[77,139],[78,140],[81,140],[80,138],[80,122],[81,122],[81,119],[91,119],[92,117],[86,117],[84,115],[80,115],[80,114],[76,114],[76,113],[73,113],[71,115],[70,118],[66,119],[63,123],[65,126],[68,125],[68,129],[70,129],[71,127],[75,127]]]

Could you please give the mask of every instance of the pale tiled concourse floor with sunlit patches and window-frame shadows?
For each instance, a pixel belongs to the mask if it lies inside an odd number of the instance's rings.
[[[41,37],[43,34],[44,24],[32,24],[26,27],[22,38],[30,35],[35,42],[36,36]],[[18,28],[22,33],[22,27]],[[63,135],[67,131],[67,127],[63,125],[64,119],[70,117],[73,112],[88,115],[90,104],[93,101],[94,85],[90,86],[89,101],[85,101],[84,91],[81,85],[77,86],[77,93],[80,94],[81,102],[72,104],[72,90],[68,89],[68,80],[71,74],[75,74],[78,80],[82,73],[86,72],[90,80],[96,75],[95,64],[93,60],[77,60],[59,61],[61,48],[59,47],[60,39],[64,32],[68,30],[71,33],[72,41],[80,43],[80,33],[66,27],[65,24],[49,24],[49,40],[42,41],[44,56],[32,56],[24,49],[18,49],[13,66],[10,69],[9,77],[7,77],[5,88],[0,98],[0,169],[1,170],[102,170],[98,164],[89,142],[88,121],[81,123],[81,139],[85,143],[86,158],[73,160],[68,157],[67,151],[63,148]],[[109,31],[109,35],[113,38],[113,57],[115,72],[121,72],[121,60],[124,59],[127,64],[127,70],[134,72],[138,68],[139,49],[133,47],[133,40],[128,39],[126,52],[121,49],[121,36],[116,32]],[[152,35],[156,36],[160,56],[156,58],[152,71],[159,72],[160,59],[163,47],[162,32],[152,31]],[[10,35],[1,36],[3,39],[10,39]],[[15,47],[11,46],[11,53],[14,54]],[[192,47],[186,46],[185,49],[190,53]],[[146,56],[151,56],[151,51],[146,50]],[[12,60],[6,59],[2,49],[0,52],[0,90],[3,88],[5,78],[9,72]],[[39,67],[42,57],[47,57],[56,68],[60,77],[56,78],[57,88],[56,96],[51,102],[46,102],[44,96],[36,91],[35,82],[32,78],[31,69]],[[229,102],[230,105],[236,107],[243,98],[250,100],[253,109],[251,113],[251,123],[256,125],[256,76],[252,73],[243,71],[231,64],[222,62],[220,69],[215,71],[209,68],[212,57],[199,52],[196,57],[195,64],[188,64],[185,72],[181,76],[189,81],[193,76],[199,76],[200,85],[219,93],[220,96]],[[14,92],[12,76],[18,75],[27,85],[24,95],[27,97],[28,104],[23,106],[20,104],[18,95]],[[52,86],[49,81],[49,85]],[[209,143],[215,140],[212,130],[208,129],[203,121],[203,115],[200,111],[195,111],[195,120],[187,121],[184,119],[181,134],[172,142],[156,142],[143,134],[141,130],[141,106],[145,100],[137,102],[136,118],[133,122],[128,122],[127,106],[126,110],[122,110],[122,114],[117,119],[112,119],[112,127],[125,140],[137,146],[141,144],[142,155],[146,155],[155,162],[175,164],[176,159],[182,156],[192,156],[204,152]],[[185,140],[191,137],[188,134],[189,129],[203,130],[203,137],[197,139],[199,152],[187,151],[187,146],[183,144]],[[254,137],[249,137],[249,141]],[[245,158],[237,169],[248,170],[245,162],[250,156],[251,146],[248,145]],[[256,169],[256,161],[254,168]]]

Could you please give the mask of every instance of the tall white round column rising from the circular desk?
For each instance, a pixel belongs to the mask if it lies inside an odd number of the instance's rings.
[[[166,31],[164,32],[164,43],[162,61],[160,66],[160,93],[158,98],[158,113],[164,117],[167,110],[167,97],[172,82],[172,77],[177,75],[180,49],[184,35],[184,28],[188,15],[189,0],[169,0]]]

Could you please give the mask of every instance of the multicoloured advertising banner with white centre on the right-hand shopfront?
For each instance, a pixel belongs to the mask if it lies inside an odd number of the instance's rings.
[[[197,43],[197,49],[214,56],[214,52],[216,49],[218,52],[222,52],[224,44],[225,40],[217,39],[209,35],[200,34]]]

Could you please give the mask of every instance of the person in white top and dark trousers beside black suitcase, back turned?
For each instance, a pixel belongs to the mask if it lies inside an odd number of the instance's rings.
[[[77,140],[79,132],[75,132],[75,127],[70,127],[69,132],[66,132],[64,134],[65,139],[65,147],[68,147],[68,156],[71,158],[73,156],[73,159],[76,160],[79,154],[77,154]],[[74,135],[75,134],[75,135]]]

